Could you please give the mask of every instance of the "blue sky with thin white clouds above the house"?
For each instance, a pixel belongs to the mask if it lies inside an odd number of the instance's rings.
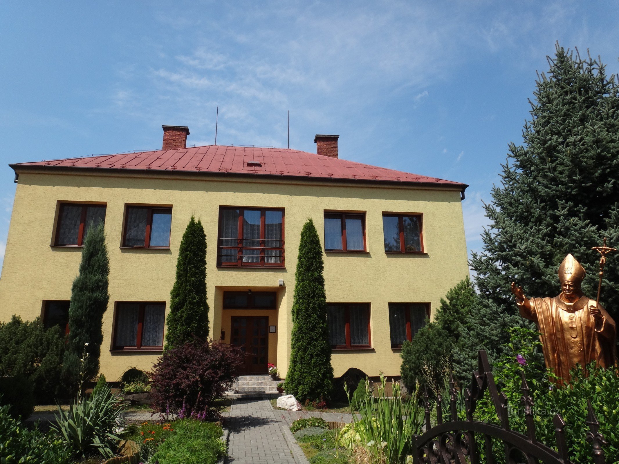
[[[470,184],[467,245],[487,223],[555,41],[619,71],[619,1],[0,3],[0,259],[8,163],[188,144],[315,152]]]

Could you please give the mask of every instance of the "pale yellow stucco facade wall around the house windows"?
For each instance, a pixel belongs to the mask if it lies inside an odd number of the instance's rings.
[[[399,187],[384,184],[264,181],[251,178],[139,173],[19,174],[6,254],[0,278],[0,320],[19,314],[41,315],[42,301],[71,297],[81,249],[54,247],[51,239],[59,202],[104,202],[105,232],[110,254],[110,304],[103,317],[101,372],[117,380],[131,366],[149,370],[158,352],[112,352],[115,301],[165,301],[170,290],[183,232],[191,215],[202,220],[207,236],[207,296],[210,334],[225,330],[230,340],[230,316],[222,311],[223,291],[277,291],[277,311],[269,316],[277,333],[269,335],[269,362],[285,374],[290,358],[290,334],[295,268],[300,233],[313,218],[324,244],[325,210],[364,212],[368,252],[324,255],[329,303],[370,303],[371,350],[334,351],[335,376],[357,367],[369,376],[397,376],[400,351],[392,350],[388,303],[431,303],[434,316],[441,297],[464,278],[467,250],[460,192],[454,189]],[[121,249],[126,204],[170,205],[170,249]],[[285,269],[217,268],[217,227],[220,206],[277,207],[285,210]],[[422,213],[425,254],[387,255],[383,246],[383,212]],[[283,279],[285,286],[278,286]],[[245,311],[248,312],[248,311]]]

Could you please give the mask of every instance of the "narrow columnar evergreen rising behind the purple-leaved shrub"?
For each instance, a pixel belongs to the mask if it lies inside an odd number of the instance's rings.
[[[206,342],[209,305],[206,303],[206,234],[200,220],[191,217],[176,261],[176,281],[170,292],[166,350],[186,342]]]

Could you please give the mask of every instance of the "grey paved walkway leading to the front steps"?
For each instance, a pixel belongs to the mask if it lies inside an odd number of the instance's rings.
[[[235,400],[225,420],[230,464],[295,464],[269,400]]]

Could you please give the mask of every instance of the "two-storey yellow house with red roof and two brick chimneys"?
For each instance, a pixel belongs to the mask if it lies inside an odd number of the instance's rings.
[[[399,375],[402,341],[468,273],[465,184],[282,148],[186,148],[164,126],[163,150],[11,165],[15,202],[0,278],[0,320],[66,325],[82,238],[105,223],[110,303],[101,371],[149,370],[162,351],[181,237],[206,231],[210,334],[246,347],[246,372],[284,376],[295,268],[311,217],[324,248],[335,376],[357,367]],[[250,336],[251,335],[251,336]]]

